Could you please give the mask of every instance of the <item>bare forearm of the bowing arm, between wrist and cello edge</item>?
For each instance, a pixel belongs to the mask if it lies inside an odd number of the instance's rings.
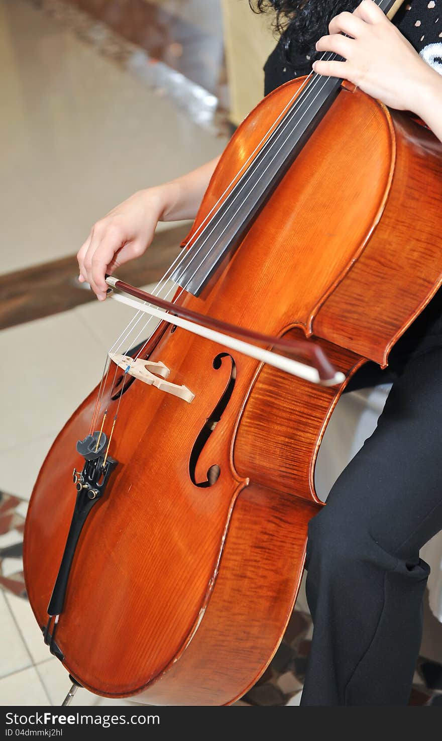
[[[153,189],[160,202],[159,221],[195,219],[218,159],[219,157],[215,157],[196,170]]]

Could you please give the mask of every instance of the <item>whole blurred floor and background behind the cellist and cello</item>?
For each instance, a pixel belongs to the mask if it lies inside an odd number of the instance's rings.
[[[274,46],[271,19],[247,0],[0,0],[1,705],[59,705],[70,687],[26,599],[24,517],[48,448],[133,315],[78,285],[76,252],[135,190],[221,153],[263,95]],[[121,278],[149,288],[189,227],[160,225]],[[318,465],[324,496],[387,391],[338,405]],[[430,602],[413,704],[442,690],[442,609]],[[297,705],[311,634],[301,591],[278,654],[241,704]],[[119,703],[85,690],[73,702]]]

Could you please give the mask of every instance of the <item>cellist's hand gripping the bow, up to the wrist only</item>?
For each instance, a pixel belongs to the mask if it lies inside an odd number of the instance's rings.
[[[161,187],[138,190],[93,225],[77,253],[78,280],[88,282],[100,301],[106,298],[105,274],[147,250],[166,205]]]

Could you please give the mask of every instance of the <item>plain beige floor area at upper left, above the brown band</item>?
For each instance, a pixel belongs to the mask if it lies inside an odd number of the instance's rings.
[[[222,149],[223,139],[30,0],[0,1],[0,68],[4,273],[76,253],[130,193]]]

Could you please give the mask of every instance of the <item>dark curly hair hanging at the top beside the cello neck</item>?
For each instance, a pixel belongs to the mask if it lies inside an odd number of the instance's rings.
[[[361,0],[249,0],[255,13],[275,12],[275,30],[283,37],[284,56],[311,53],[327,33],[329,21],[343,10],[352,12]]]

